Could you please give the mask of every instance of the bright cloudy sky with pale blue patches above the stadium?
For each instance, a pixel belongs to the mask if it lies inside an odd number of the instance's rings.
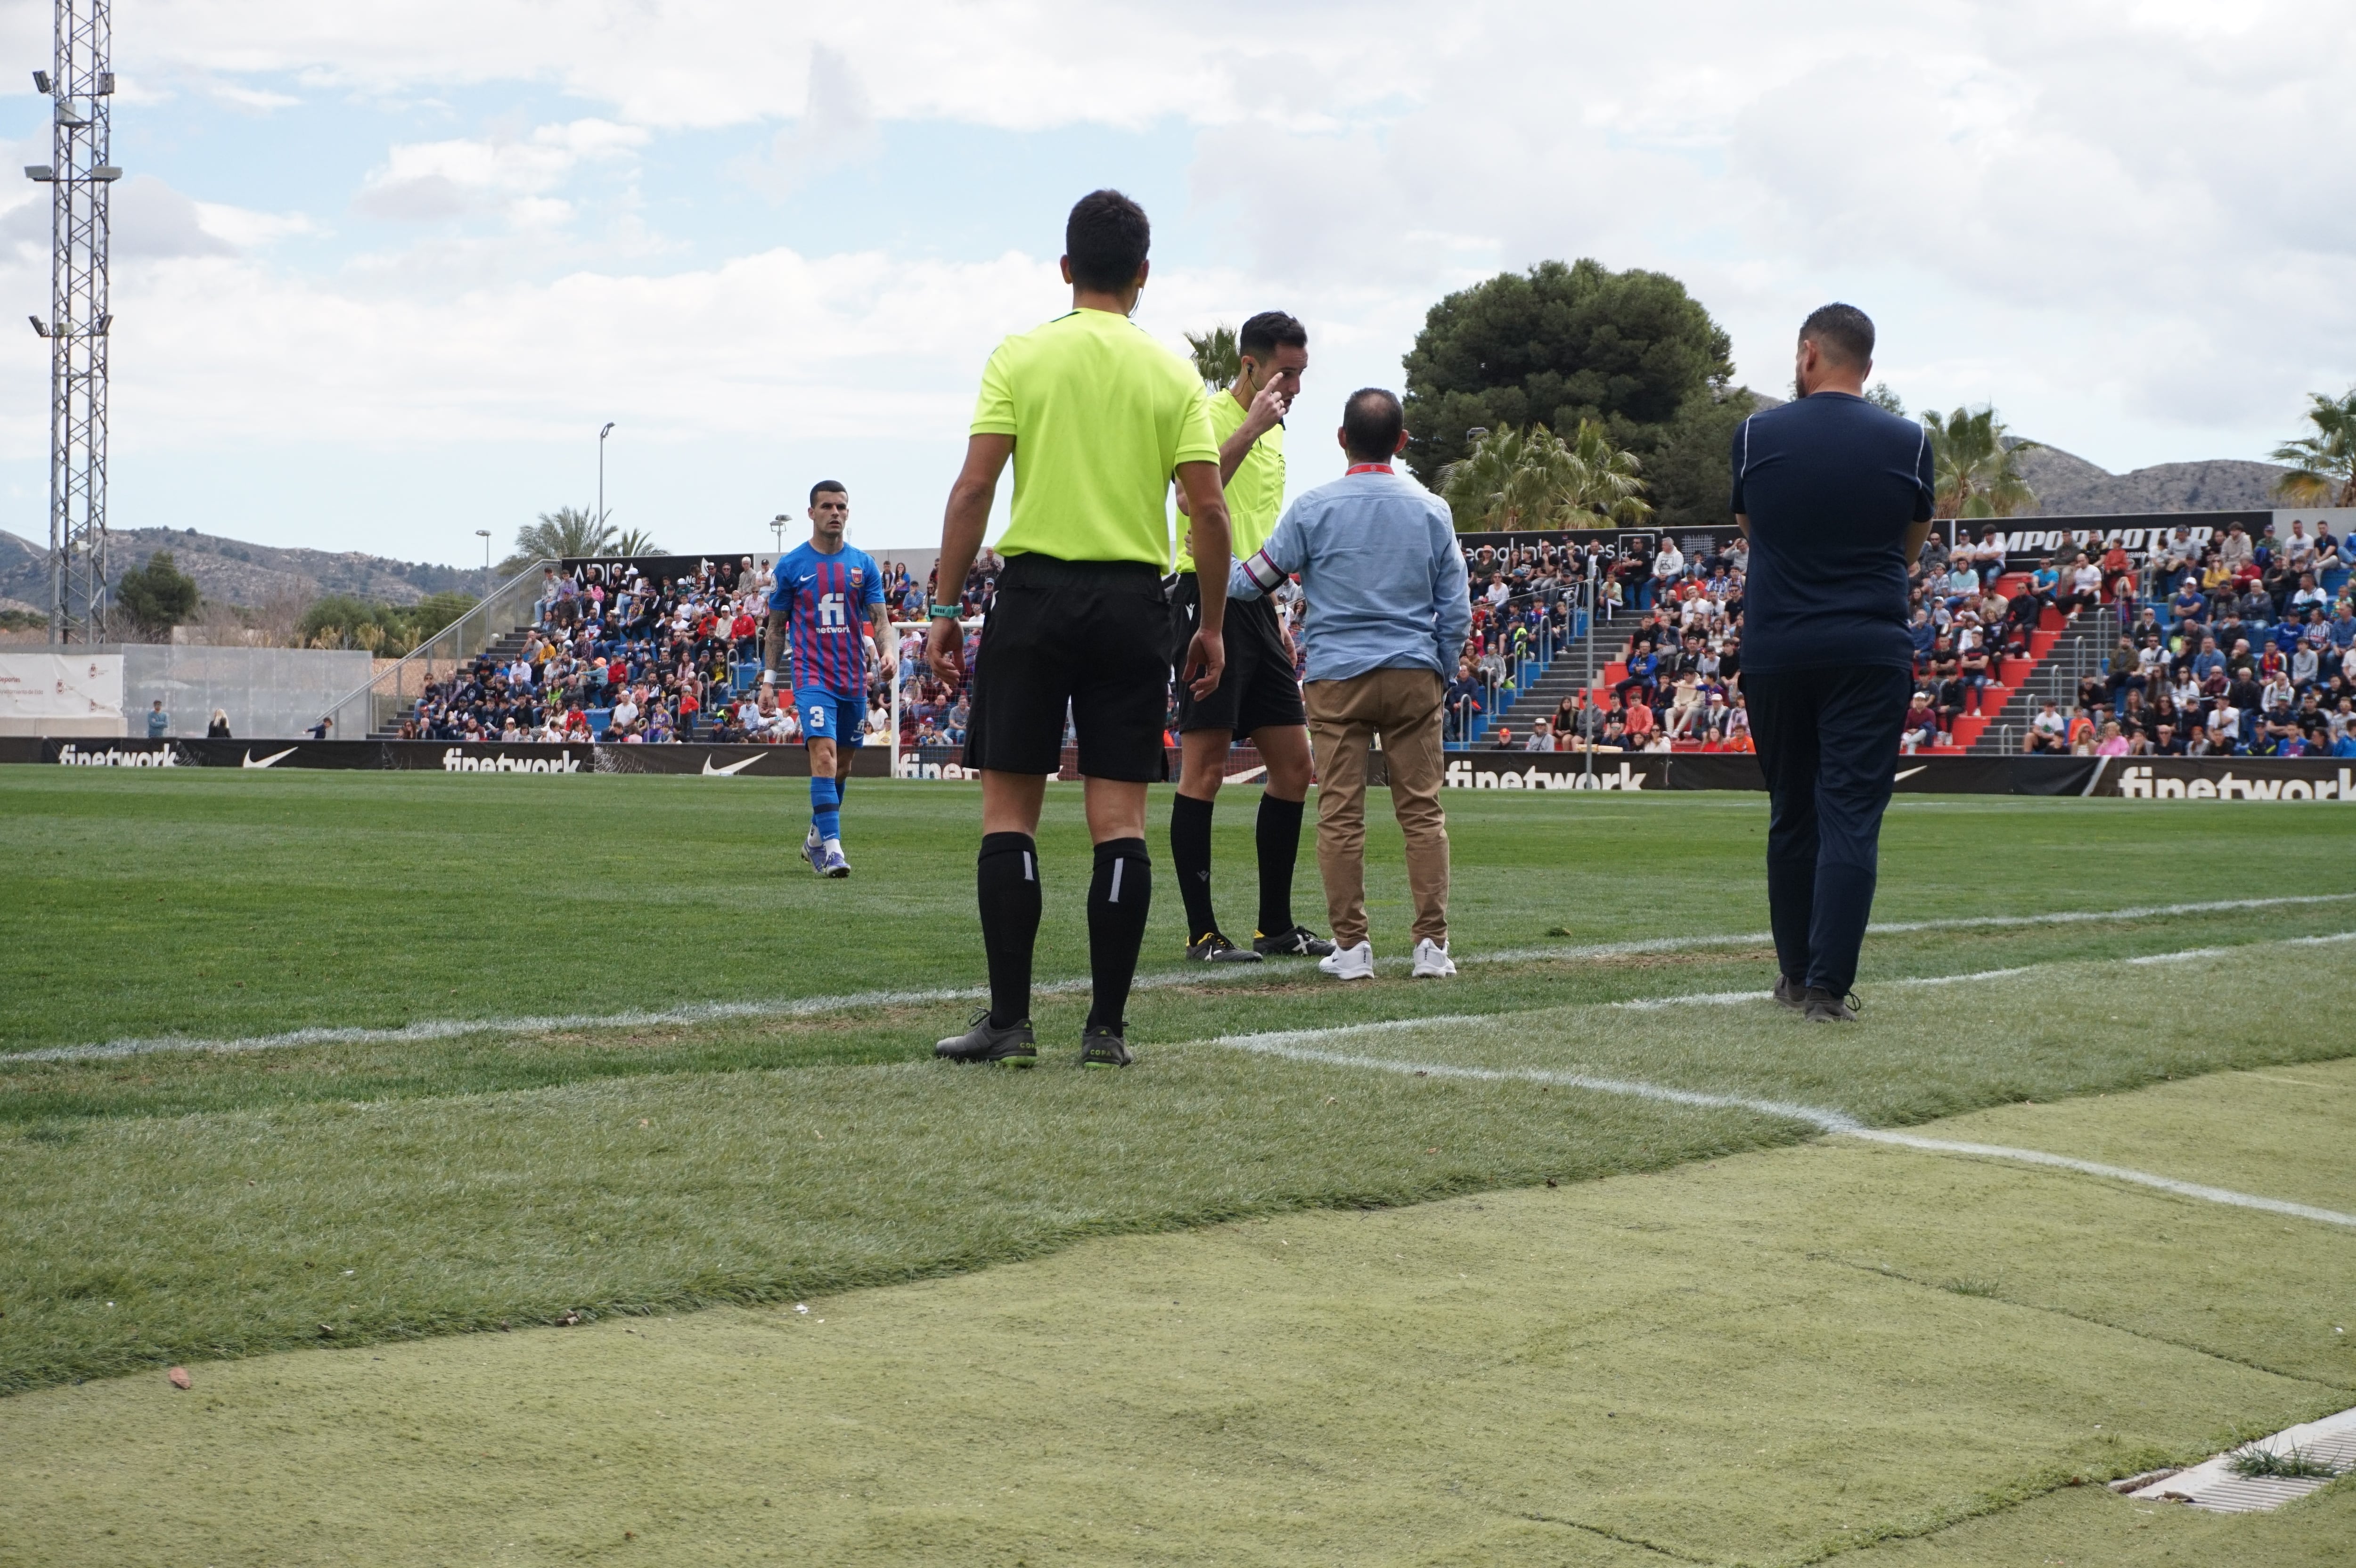
[[[47,5],[0,59],[5,162],[49,162]],[[2264,454],[2356,381],[2344,0],[115,0],[115,71],[118,527],[481,560],[591,501],[613,419],[615,523],[664,546],[761,544],[820,476],[931,542],[1103,184],[1154,217],[1152,332],[1310,323],[1303,433],[1548,257],[1680,275],[1762,388],[1849,299],[1908,405],[2109,469]],[[45,396],[0,332],[26,537]]]

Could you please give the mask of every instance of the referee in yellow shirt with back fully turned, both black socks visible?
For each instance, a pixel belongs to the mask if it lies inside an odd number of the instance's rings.
[[[1152,226],[1119,191],[1079,198],[1063,228],[1072,311],[999,344],[982,370],[966,466],[949,490],[935,582],[954,591],[982,546],[999,473],[1015,499],[999,553],[997,600],[973,655],[966,768],[982,775],[975,890],[990,1008],[935,1045],[952,1062],[1030,1067],[1032,946],[1039,939],[1039,803],[1063,760],[1070,709],[1079,737],[1088,838],[1088,1022],[1081,1067],[1129,1067],[1124,1012],[1152,906],[1145,786],[1164,777],[1169,702],[1169,485],[1192,516],[1194,553],[1230,558],[1218,440],[1202,379],[1129,320],[1145,287]],[[964,678],[957,605],[933,605],[926,657]],[[1178,678],[1218,690],[1227,655],[1225,572],[1202,574],[1197,631]]]

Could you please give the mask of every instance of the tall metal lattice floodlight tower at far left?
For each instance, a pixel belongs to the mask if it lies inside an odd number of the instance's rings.
[[[57,0],[57,54],[33,87],[57,101],[49,186],[49,640],[106,638],[106,193],[113,0]]]

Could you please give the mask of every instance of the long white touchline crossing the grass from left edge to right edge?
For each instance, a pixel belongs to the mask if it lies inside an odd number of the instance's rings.
[[[2266,899],[2215,899],[2208,904],[2144,904],[2135,909],[2057,909],[2050,913],[2033,916],[1955,916],[1946,921],[1892,921],[1885,925],[1871,925],[1875,935],[1904,935],[1922,930],[1979,930],[1979,928],[2012,928],[2012,925],[2083,925],[2090,921],[2153,921],[2186,913],[2226,913],[2241,909],[2281,909],[2288,904],[2337,904],[2356,899],[2356,892],[2304,892],[2283,895]],[[2337,937],[2316,937],[2337,939]],[[1600,942],[1590,946],[1524,946],[1505,949],[1496,954],[1458,954],[1456,963],[1529,963],[1536,958],[1621,958],[1630,954],[1682,954],[1710,946],[1751,946],[1760,942],[1774,942],[1774,932],[1739,932],[1739,935],[1708,935],[1708,937],[1652,937],[1637,942]],[[2191,956],[2210,951],[2231,949],[2196,949]],[[2146,963],[2158,963],[2172,956],[2153,958]],[[1383,961],[1383,968],[1407,968],[1407,958]],[[2010,970],[1991,970],[1991,975],[2005,975]],[[1204,984],[1239,984],[1249,982],[1246,972],[1216,975],[1211,970],[1171,970],[1162,975],[1140,975],[1136,979],[1138,991],[1162,991],[1171,986],[1204,986]],[[1892,982],[1897,984],[1897,982]],[[1920,982],[1920,984],[1939,984]],[[1048,984],[1032,986],[1039,996],[1067,996],[1074,991],[1086,991],[1086,979],[1055,979]],[[766,1001],[737,1001],[737,1003],[681,1003],[676,1008],[648,1008],[631,1012],[558,1012],[558,1015],[523,1015],[523,1017],[445,1017],[445,1019],[422,1019],[417,1024],[389,1024],[379,1029],[370,1026],[311,1026],[311,1029],[285,1029],[278,1034],[250,1034],[229,1038],[203,1038],[186,1034],[163,1034],[125,1041],[104,1041],[94,1045],[42,1045],[38,1050],[14,1050],[0,1052],[0,1062],[104,1062],[113,1057],[139,1057],[158,1050],[203,1050],[203,1052],[245,1052],[245,1050],[290,1050],[299,1045],[417,1045],[431,1041],[457,1041],[474,1034],[570,1034],[584,1029],[662,1029],[674,1024],[714,1024],[728,1019],[754,1019],[754,1017],[813,1017],[820,1012],[848,1012],[855,1008],[916,1008],[952,1001],[980,1001],[987,996],[982,986],[952,986],[933,991],[853,991],[848,996],[787,996]],[[1715,994],[1720,1001],[1755,1001],[1765,996],[1762,991],[1722,991]],[[1703,998],[1663,998],[1661,1005],[1675,1005]],[[1635,1008],[1644,1003],[1616,1003],[1623,1008]]]

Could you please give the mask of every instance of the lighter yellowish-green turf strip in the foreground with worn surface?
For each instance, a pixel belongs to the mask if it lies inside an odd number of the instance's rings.
[[[1013,1083],[1055,1078],[1081,1074]],[[2219,1092],[2212,1121],[2250,1104]],[[2347,1175],[2351,1147],[2297,1156]],[[2344,1554],[2344,1486],[2231,1533],[2094,1483],[2344,1408],[2351,1293],[2356,1245],[2323,1227],[1833,1140],[1096,1238],[808,1311],[47,1389],[5,1406],[0,1540],[54,1563],[2290,1568]],[[2168,1295],[2208,1311],[2153,1316]]]

